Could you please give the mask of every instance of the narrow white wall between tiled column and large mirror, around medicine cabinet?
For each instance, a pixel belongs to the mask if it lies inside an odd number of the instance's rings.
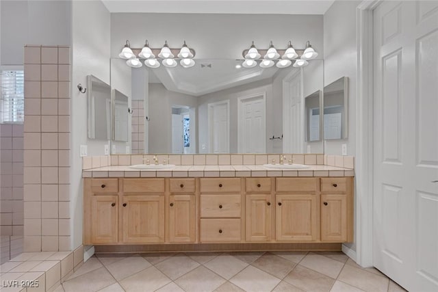
[[[103,155],[106,141],[88,140],[87,95],[76,88],[94,75],[110,84],[110,12],[101,1],[73,1],[73,75],[71,96],[70,215],[72,248],[82,244],[82,159],[79,146],[88,145],[88,155]]]

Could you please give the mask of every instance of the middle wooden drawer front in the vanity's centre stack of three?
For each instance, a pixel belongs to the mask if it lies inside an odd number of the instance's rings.
[[[240,195],[201,195],[201,217],[240,217]]]

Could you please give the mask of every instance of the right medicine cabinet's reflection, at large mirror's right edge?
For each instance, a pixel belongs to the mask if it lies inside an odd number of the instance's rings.
[[[305,125],[306,141],[320,141],[321,118],[320,107],[322,101],[322,91],[318,90],[305,98]]]

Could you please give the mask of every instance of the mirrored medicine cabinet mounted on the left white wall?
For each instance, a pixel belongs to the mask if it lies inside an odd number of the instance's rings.
[[[111,87],[94,77],[87,76],[88,83],[88,138],[111,139]]]

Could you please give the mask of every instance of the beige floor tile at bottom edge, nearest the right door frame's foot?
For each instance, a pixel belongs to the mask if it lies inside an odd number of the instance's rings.
[[[338,280],[360,288],[365,291],[387,291],[389,279],[376,274],[372,274],[369,271],[358,269],[352,265],[345,265],[339,274]]]

